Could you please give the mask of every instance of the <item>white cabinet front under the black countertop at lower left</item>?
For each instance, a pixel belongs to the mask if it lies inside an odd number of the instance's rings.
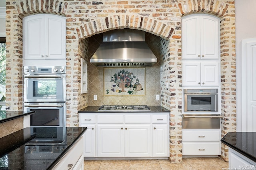
[[[83,136],[72,146],[72,148],[64,155],[64,157],[54,166],[54,170],[83,170]]]

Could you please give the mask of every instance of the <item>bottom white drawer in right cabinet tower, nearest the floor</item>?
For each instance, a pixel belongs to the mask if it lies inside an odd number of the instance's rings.
[[[220,155],[220,142],[184,142],[182,155]]]

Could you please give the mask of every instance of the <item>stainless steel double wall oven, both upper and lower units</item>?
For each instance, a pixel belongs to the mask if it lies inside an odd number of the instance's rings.
[[[66,66],[24,66],[24,111],[31,127],[66,126]]]

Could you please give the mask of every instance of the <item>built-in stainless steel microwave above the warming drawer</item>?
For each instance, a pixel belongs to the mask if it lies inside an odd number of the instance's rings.
[[[184,89],[184,112],[218,112],[218,89]]]

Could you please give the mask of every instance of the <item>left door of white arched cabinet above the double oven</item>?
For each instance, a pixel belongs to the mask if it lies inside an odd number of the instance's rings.
[[[23,18],[24,59],[44,59],[44,32],[44,15],[38,14]]]

